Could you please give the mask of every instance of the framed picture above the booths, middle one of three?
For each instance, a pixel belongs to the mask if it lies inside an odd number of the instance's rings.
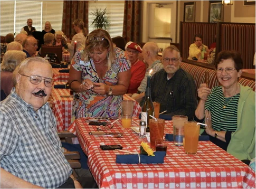
[[[209,22],[223,22],[222,1],[210,1]]]

